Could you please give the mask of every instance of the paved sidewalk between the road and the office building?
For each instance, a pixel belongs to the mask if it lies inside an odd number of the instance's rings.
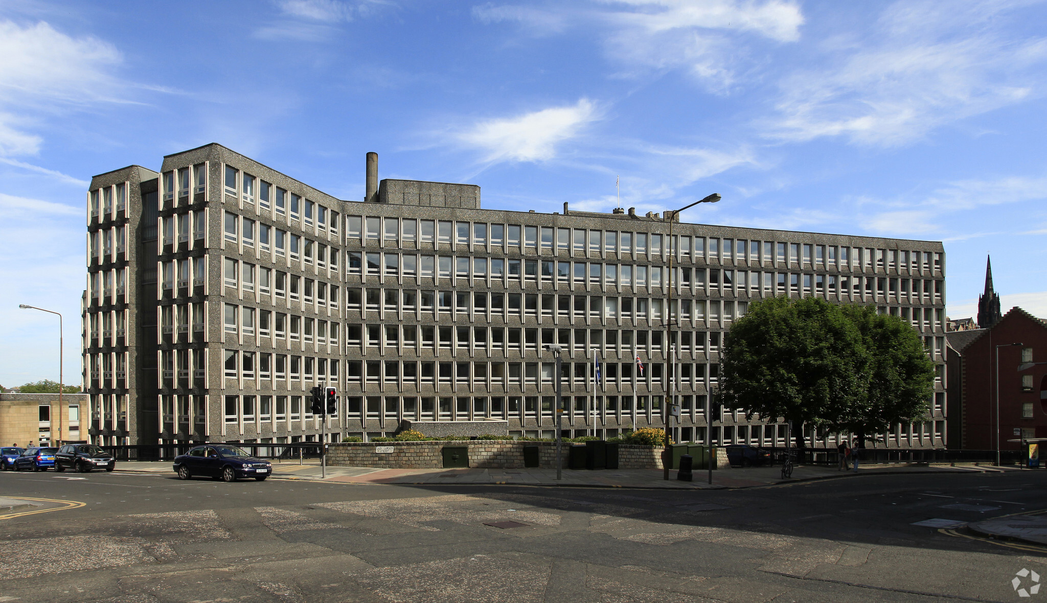
[[[862,475],[884,475],[895,473],[984,473],[1020,471],[1008,467],[986,467],[976,465],[927,465],[927,464],[885,464],[866,465],[854,471],[838,471],[834,467],[799,465],[794,468],[789,479],[781,478],[781,467],[725,468],[712,471],[712,483],[707,470],[693,472],[692,482],[676,478],[676,471],[664,478],[661,469],[607,469],[572,470],[564,469],[560,479],[556,469],[381,469],[374,467],[327,467],[321,469],[316,462],[274,463],[272,478],[327,482],[331,484],[370,485],[502,485],[502,486],[551,486],[567,488],[633,488],[658,490],[718,490],[726,488],[753,488],[783,483],[852,477]],[[144,473],[173,473],[170,462],[125,462],[117,465],[117,471]]]

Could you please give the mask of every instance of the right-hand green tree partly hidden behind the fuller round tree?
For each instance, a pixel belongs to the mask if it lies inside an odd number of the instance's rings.
[[[854,433],[864,447],[867,434],[927,412],[934,395],[934,362],[919,334],[898,316],[877,314],[871,306],[848,306],[843,312],[862,333],[869,363],[863,395],[826,419],[830,429]]]

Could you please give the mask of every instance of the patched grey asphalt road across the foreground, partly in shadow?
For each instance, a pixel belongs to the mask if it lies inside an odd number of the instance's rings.
[[[1023,568],[1047,581],[1044,549],[913,526],[1047,508],[1045,486],[1047,472],[683,492],[3,472],[0,496],[54,502],[0,519],[0,602],[1047,601],[1011,583]]]

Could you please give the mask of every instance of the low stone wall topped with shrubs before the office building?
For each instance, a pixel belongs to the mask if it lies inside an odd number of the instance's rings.
[[[468,440],[441,442],[347,442],[331,444],[328,465],[332,467],[381,467],[386,469],[440,469],[445,446],[469,448],[469,467],[480,469],[524,468],[524,447],[538,447],[540,468],[556,468],[555,442],[520,442],[514,440]],[[379,449],[392,452],[378,452]],[[567,465],[567,444],[564,444],[563,466]],[[620,444],[619,469],[661,469],[661,449],[650,446]],[[726,456],[725,456],[726,462]]]

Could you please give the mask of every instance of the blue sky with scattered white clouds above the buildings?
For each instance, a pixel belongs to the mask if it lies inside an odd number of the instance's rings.
[[[1043,2],[0,4],[0,383],[79,379],[87,182],[211,141],[342,199],[470,182],[486,207],[943,241],[1047,316]]]

